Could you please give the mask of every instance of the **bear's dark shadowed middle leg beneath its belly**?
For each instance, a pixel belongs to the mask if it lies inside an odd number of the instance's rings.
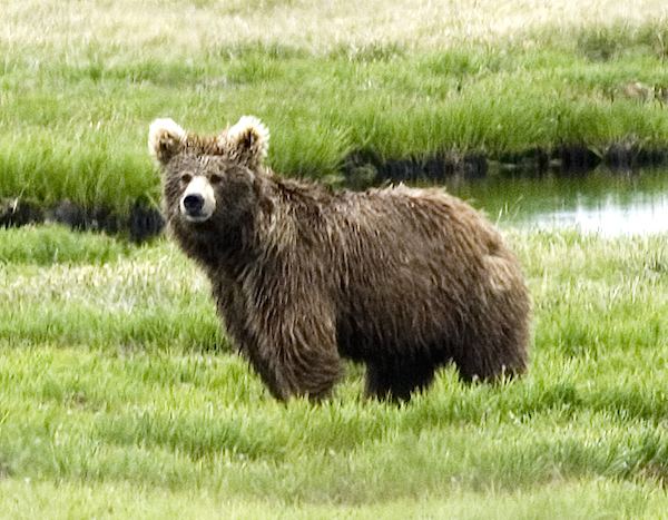
[[[433,364],[424,360],[369,363],[365,394],[380,400],[410,401],[413,392],[432,383],[434,371]]]

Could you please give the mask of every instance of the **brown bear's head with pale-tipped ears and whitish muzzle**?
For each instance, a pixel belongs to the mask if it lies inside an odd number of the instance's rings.
[[[197,234],[234,229],[252,219],[268,146],[268,129],[253,116],[206,137],[185,131],[171,119],[156,119],[148,148],[160,165],[170,227]]]

